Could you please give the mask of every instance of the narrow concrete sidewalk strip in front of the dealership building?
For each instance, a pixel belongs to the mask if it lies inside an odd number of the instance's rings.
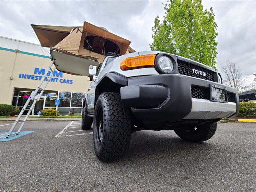
[[[14,123],[17,117],[7,117],[0,119],[0,123]],[[24,120],[21,116],[20,120]],[[82,118],[28,118],[26,122],[50,122],[50,121],[82,121]]]

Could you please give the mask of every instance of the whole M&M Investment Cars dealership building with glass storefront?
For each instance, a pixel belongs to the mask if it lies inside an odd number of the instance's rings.
[[[49,48],[0,36],[0,104],[21,109],[38,86],[50,62]],[[55,100],[60,100],[58,110],[61,115],[69,112],[81,114],[89,80],[87,76],[74,76],[55,70],[32,115],[45,108],[56,108]],[[30,102],[31,105],[33,101]]]

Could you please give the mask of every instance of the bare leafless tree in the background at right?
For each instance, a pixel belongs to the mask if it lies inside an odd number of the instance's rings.
[[[224,84],[228,84],[231,87],[236,88],[238,91],[245,89],[246,75],[243,75],[239,66],[236,65],[236,62],[227,60],[221,66],[222,69],[222,80]]]

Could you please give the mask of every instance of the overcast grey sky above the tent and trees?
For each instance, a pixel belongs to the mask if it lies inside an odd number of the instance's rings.
[[[152,27],[164,16],[166,1],[12,1],[0,0],[0,36],[37,43],[30,24],[81,26],[86,20],[150,50]],[[217,68],[236,62],[244,74],[256,73],[256,0],[203,0],[218,24]]]

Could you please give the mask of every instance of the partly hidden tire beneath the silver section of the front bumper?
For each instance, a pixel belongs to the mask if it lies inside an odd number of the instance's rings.
[[[217,123],[206,123],[201,126],[190,129],[176,129],[174,132],[183,140],[190,142],[206,141],[214,135],[217,129]]]

